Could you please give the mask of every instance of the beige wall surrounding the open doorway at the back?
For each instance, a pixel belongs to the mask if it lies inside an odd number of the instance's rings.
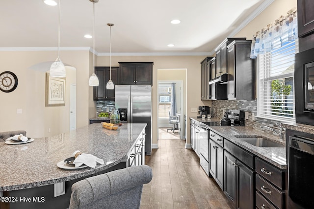
[[[197,113],[191,113],[191,107],[204,105],[201,98],[201,64],[204,56],[112,56],[112,66],[119,66],[118,62],[154,62],[153,66],[153,87],[152,87],[152,144],[157,145],[158,137],[158,117],[157,117],[157,70],[158,69],[186,69],[186,94],[187,101],[184,105],[186,108],[187,118],[197,116]],[[97,66],[109,66],[109,59],[105,56],[97,58]],[[175,70],[172,79],[181,80],[182,76],[176,78]],[[189,123],[188,123],[189,125]],[[189,136],[187,129],[187,136]],[[188,137],[186,143],[189,142]]]

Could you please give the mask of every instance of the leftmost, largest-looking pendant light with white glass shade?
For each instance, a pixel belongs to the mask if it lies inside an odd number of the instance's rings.
[[[61,26],[61,0],[59,0],[59,27],[58,27],[58,57],[50,67],[50,76],[52,77],[65,77],[65,68],[60,59],[60,26]]]

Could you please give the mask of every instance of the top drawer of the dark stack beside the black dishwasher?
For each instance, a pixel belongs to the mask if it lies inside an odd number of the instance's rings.
[[[275,166],[255,158],[255,171],[272,184],[284,189],[284,173]]]

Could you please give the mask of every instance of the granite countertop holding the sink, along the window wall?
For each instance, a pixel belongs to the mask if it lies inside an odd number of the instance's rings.
[[[220,121],[218,118],[210,118],[203,120],[202,118],[190,117],[197,121]],[[266,139],[275,141],[277,143],[285,145],[285,141],[275,135],[268,134],[263,131],[255,130],[246,126],[209,126],[209,129],[222,137],[230,140],[243,149],[253,153],[254,155],[262,158],[263,160],[271,163],[281,169],[287,168],[286,163],[286,148],[283,147],[257,147],[253,146],[246,141],[243,141],[235,136],[263,136]]]

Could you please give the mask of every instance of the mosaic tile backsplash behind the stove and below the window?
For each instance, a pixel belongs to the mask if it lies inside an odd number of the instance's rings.
[[[216,100],[211,102],[212,116],[222,118],[226,109],[243,110],[248,112],[249,119],[245,119],[245,126],[256,130],[262,130],[261,125],[269,126],[279,132],[278,121],[253,117],[257,115],[257,100]],[[268,130],[262,130],[269,134],[274,134]]]

